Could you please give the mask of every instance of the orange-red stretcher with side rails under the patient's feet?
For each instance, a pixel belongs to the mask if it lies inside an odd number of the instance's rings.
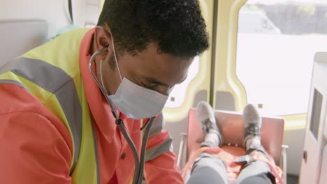
[[[215,110],[215,118],[224,137],[224,144],[221,148],[236,156],[244,154],[244,149],[240,151],[244,136],[242,113]],[[283,118],[275,116],[262,117],[261,144],[273,157],[275,164],[282,169],[282,180],[286,183],[286,151],[288,146],[282,145],[283,134]],[[201,141],[203,141],[203,132],[196,117],[196,109],[190,109],[187,133],[181,134],[180,149],[177,156],[177,164],[181,169],[183,167],[183,158],[186,157],[187,160],[199,148]],[[229,178],[229,183],[235,183],[235,178]]]

